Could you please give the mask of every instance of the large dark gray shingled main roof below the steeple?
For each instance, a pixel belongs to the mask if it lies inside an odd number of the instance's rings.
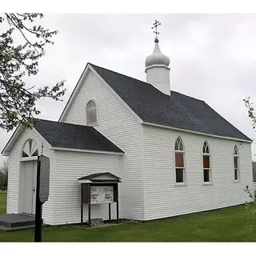
[[[89,63],[143,122],[251,141],[206,102]]]

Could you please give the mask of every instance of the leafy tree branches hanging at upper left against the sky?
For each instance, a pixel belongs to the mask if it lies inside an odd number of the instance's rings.
[[[43,14],[2,14],[0,32],[0,128],[10,131],[19,124],[34,126],[34,116],[40,114],[35,103],[40,98],[62,100],[64,81],[56,85],[36,88],[26,86],[24,78],[38,74],[38,60],[45,54],[45,46],[54,44],[51,38],[58,33],[38,25]],[[14,44],[16,35],[22,44]]]

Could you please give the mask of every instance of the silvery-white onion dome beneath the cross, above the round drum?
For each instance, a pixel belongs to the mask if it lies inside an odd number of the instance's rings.
[[[158,38],[155,38],[154,42],[155,42],[155,46],[154,46],[153,54],[146,57],[145,66],[146,67],[154,66],[154,65],[169,66],[170,58],[162,54],[158,46],[158,42],[159,42]]]

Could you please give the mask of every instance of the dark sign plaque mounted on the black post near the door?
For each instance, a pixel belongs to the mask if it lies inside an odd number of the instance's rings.
[[[50,159],[44,155],[40,155],[38,157],[38,161],[40,161],[39,198],[40,198],[40,202],[46,202],[49,197]]]

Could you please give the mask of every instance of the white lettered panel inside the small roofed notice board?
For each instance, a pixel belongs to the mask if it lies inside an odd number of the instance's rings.
[[[110,203],[114,202],[113,186],[91,186],[90,203]]]

